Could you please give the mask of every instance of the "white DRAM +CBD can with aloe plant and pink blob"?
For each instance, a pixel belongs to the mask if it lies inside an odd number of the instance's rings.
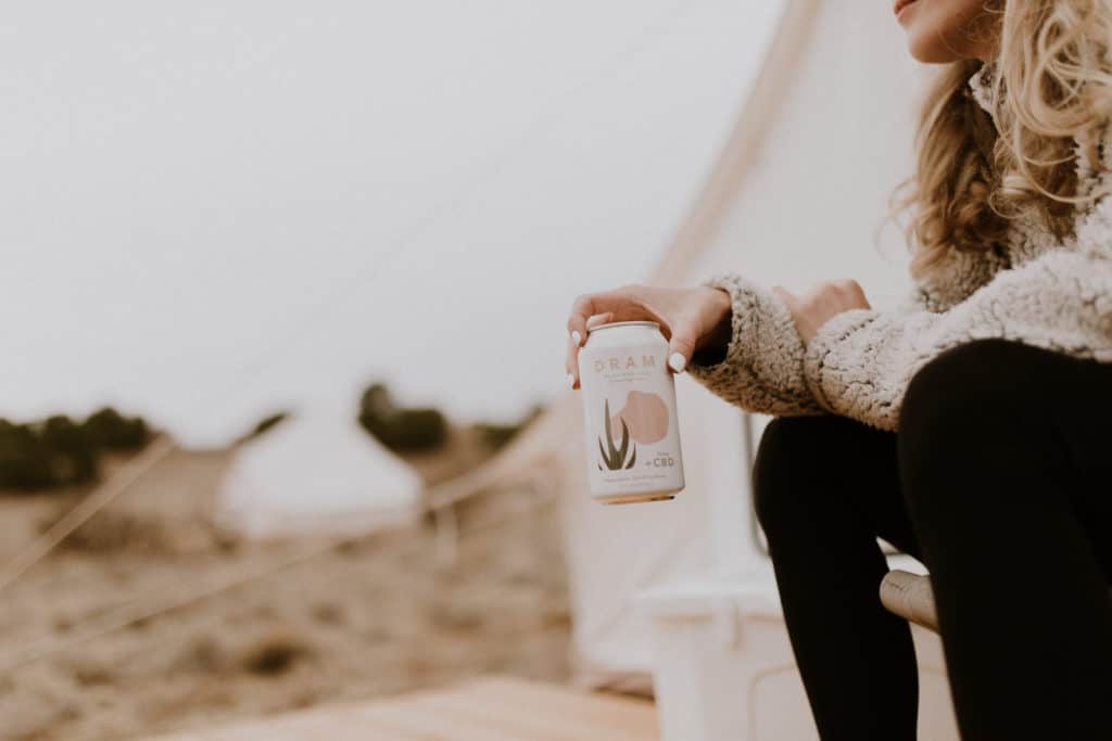
[[[653,321],[599,324],[579,350],[592,495],[607,504],[673,499],[684,488],[675,379]]]

